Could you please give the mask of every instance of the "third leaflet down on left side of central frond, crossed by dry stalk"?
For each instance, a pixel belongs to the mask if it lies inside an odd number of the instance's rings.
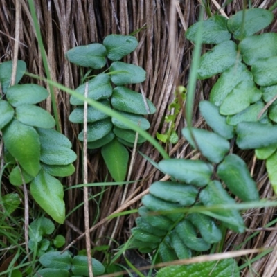
[[[101,104],[105,105],[106,107],[110,107],[108,100],[99,101]],[[88,106],[87,107],[87,122],[93,123],[102,119],[105,119],[109,116],[103,113],[99,109],[95,107]],[[84,106],[76,107],[71,114],[69,115],[69,120],[73,123],[84,123]]]

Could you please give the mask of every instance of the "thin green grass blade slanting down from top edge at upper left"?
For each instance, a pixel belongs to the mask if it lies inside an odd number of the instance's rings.
[[[46,52],[45,52],[45,49],[44,49],[44,44],[42,42],[42,34],[40,33],[39,24],[38,24],[38,21],[37,21],[37,15],[35,14],[35,5],[34,5],[33,0],[28,0],[28,3],[29,3],[29,6],[30,6],[30,13],[32,15],[34,26],[35,26],[35,33],[37,35],[37,42],[39,44],[40,52],[42,53],[42,62],[44,64],[46,77],[47,77],[48,80],[51,80],[51,75],[50,75],[48,62],[47,62],[47,57],[46,57]],[[55,101],[55,93],[54,93],[53,85],[50,82],[48,82],[48,84],[49,84],[49,90],[50,90],[50,94],[51,94],[51,101],[52,101],[52,107],[53,107],[53,111],[54,111],[54,117],[55,117],[57,132],[61,132],[60,124],[59,124],[59,116],[58,116],[58,113],[57,113],[57,103]]]

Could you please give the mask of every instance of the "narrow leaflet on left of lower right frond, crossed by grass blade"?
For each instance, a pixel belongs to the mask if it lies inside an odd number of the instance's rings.
[[[150,211],[154,212],[161,212],[162,211],[175,211],[177,208],[181,208],[182,206],[177,203],[172,203],[172,202],[166,202],[163,199],[154,197],[154,195],[145,195],[141,199],[141,202],[143,203],[146,208]],[[172,220],[173,222],[180,220],[182,217],[184,217],[184,213],[165,213],[164,215],[167,217],[169,220]]]

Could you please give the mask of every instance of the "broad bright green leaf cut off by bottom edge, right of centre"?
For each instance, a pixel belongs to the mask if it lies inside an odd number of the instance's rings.
[[[215,260],[211,262],[199,262],[191,265],[172,265],[164,267],[157,273],[157,277],[185,277],[185,276],[209,276],[240,277],[240,270],[233,258]]]

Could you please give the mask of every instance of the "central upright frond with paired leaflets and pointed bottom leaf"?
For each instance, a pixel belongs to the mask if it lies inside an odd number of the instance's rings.
[[[108,35],[103,44],[78,46],[66,53],[70,62],[91,69],[105,66],[106,58],[113,61],[106,73],[98,73],[76,89],[84,96],[87,87],[87,97],[99,101],[105,107],[118,111],[118,114],[131,121],[134,125],[147,130],[150,123],[143,115],[153,114],[156,108],[141,93],[124,87],[125,84],[137,84],[146,78],[145,71],[134,64],[119,62],[125,55],[132,53],[139,42],[133,36]],[[108,73],[107,73],[108,71]],[[117,87],[116,87],[117,86]],[[113,89],[114,87],[114,89]],[[71,105],[77,105],[70,114],[73,123],[84,122],[84,101],[71,96]],[[102,148],[102,156],[111,177],[123,181],[127,172],[129,154],[124,145],[132,147],[136,141],[136,133],[125,124],[124,120],[109,118],[101,109],[87,109],[87,142],[89,149]],[[84,132],[78,135],[84,141]],[[145,139],[139,136],[138,143]]]

